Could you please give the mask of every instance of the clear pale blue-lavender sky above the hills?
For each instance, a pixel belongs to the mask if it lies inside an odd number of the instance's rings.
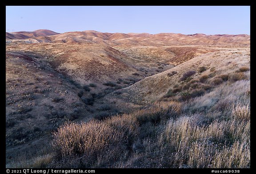
[[[250,35],[250,6],[6,6],[6,32]]]

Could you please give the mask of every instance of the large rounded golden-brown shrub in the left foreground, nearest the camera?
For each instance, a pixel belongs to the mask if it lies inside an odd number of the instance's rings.
[[[65,123],[53,133],[53,147],[63,159],[79,156],[88,167],[111,151],[120,152],[123,132],[116,131],[103,122]],[[120,154],[121,155],[121,154]],[[113,156],[115,159],[116,157]]]

